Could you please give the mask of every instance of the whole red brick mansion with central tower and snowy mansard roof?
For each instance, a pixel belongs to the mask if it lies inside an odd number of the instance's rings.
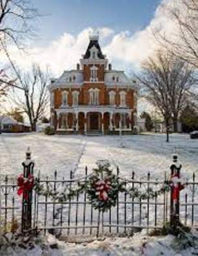
[[[98,36],[90,36],[77,68],[51,79],[50,120],[57,134],[132,133],[137,91],[124,71],[112,69]]]

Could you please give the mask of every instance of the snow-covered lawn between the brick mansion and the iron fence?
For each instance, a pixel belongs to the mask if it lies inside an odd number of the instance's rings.
[[[45,176],[52,176],[54,170],[59,177],[68,176],[70,170],[83,175],[86,165],[91,172],[97,159],[109,159],[112,167],[119,166],[123,176],[130,176],[134,170],[138,176],[150,171],[151,176],[162,178],[165,170],[169,172],[174,150],[183,164],[182,172],[198,172],[198,140],[190,139],[189,135],[172,134],[170,143],[166,143],[166,135],[162,134],[122,137],[1,134],[1,174],[18,176],[21,173],[21,162],[28,146],[35,160],[35,170],[41,170],[41,175]]]

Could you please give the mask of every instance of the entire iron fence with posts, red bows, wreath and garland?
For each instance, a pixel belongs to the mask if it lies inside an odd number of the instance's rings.
[[[99,163],[100,162],[100,163]],[[102,163],[104,160],[102,161]],[[84,169],[84,176],[34,177],[30,150],[17,179],[1,180],[1,231],[49,231],[66,235],[130,235],[141,229],[160,229],[170,222],[198,227],[198,181],[183,181],[181,164],[173,156],[170,178],[156,180],[150,172],[130,178],[107,163],[98,169]],[[18,195],[22,195],[20,198]],[[17,195],[17,196],[16,196]]]

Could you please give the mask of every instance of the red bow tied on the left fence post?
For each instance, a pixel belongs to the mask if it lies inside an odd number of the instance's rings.
[[[34,187],[34,176],[30,174],[28,178],[24,178],[23,174],[21,174],[17,178],[17,186],[19,186],[17,194],[19,196],[23,194],[23,197],[25,198],[25,200],[28,200],[28,192],[31,191],[32,188]]]

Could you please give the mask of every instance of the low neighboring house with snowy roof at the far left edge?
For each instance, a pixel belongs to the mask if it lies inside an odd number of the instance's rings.
[[[29,124],[17,122],[12,117],[0,117],[0,128],[2,132],[30,132]]]

